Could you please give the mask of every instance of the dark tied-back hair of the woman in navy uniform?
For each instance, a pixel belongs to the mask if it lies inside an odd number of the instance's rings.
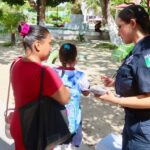
[[[129,5],[120,11],[118,17],[126,23],[135,19],[144,33],[150,33],[150,19],[148,13],[140,5]]]

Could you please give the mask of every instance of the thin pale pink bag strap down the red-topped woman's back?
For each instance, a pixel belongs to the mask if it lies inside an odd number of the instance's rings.
[[[9,106],[9,97],[10,97],[10,87],[11,87],[11,71],[14,67],[14,65],[16,64],[16,62],[18,62],[20,60],[20,57],[18,57],[17,59],[15,59],[13,61],[13,63],[11,64],[10,66],[10,71],[9,71],[9,84],[8,84],[8,91],[7,91],[7,103],[6,103],[6,110],[5,110],[5,119],[7,117],[7,114],[8,114],[8,110],[14,110],[14,108],[9,108],[8,109],[8,106]]]

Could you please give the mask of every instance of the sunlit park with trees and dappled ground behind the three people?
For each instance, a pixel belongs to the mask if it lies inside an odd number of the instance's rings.
[[[124,45],[118,37],[115,18],[122,8],[133,2],[149,11],[149,1],[146,0],[0,0],[1,150],[13,150],[13,140],[8,139],[4,132],[4,111],[10,64],[14,58],[24,54],[22,39],[17,33],[18,22],[23,20],[32,25],[44,25],[50,30],[54,53],[44,62],[46,65],[59,64],[60,45],[72,42],[77,45],[79,53],[77,68],[85,71],[91,85],[102,85],[100,75],[113,76],[122,59],[132,50],[133,45]],[[99,31],[95,31],[98,22],[101,26]],[[55,58],[56,61],[53,61]],[[13,107],[12,91],[10,100]],[[121,134],[124,115],[121,108],[90,95],[82,97],[82,109],[83,145],[80,149],[93,150],[108,134]]]

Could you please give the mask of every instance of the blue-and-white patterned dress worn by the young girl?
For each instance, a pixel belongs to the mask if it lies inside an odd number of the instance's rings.
[[[54,68],[58,75],[62,76],[62,67]],[[64,75],[61,77],[64,85],[70,88],[70,101],[66,104],[69,130],[76,133],[81,123],[81,92],[87,91],[89,82],[84,72],[76,70],[75,68],[67,68]]]

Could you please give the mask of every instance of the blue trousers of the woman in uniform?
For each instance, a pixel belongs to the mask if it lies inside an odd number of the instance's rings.
[[[150,119],[125,117],[122,150],[150,150]]]

